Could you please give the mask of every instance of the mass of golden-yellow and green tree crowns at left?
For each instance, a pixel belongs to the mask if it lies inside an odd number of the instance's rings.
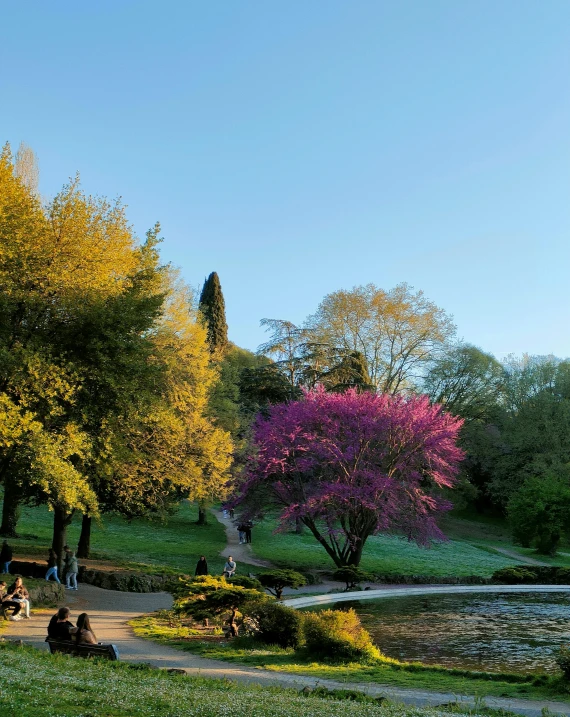
[[[223,493],[228,435],[206,418],[217,380],[187,290],[119,203],[77,180],[42,207],[0,157],[1,531],[21,498],[54,511],[160,513]]]

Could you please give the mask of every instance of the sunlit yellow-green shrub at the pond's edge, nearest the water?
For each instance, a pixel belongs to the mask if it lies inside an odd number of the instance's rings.
[[[320,659],[374,660],[380,652],[354,610],[303,614],[307,652]]]

